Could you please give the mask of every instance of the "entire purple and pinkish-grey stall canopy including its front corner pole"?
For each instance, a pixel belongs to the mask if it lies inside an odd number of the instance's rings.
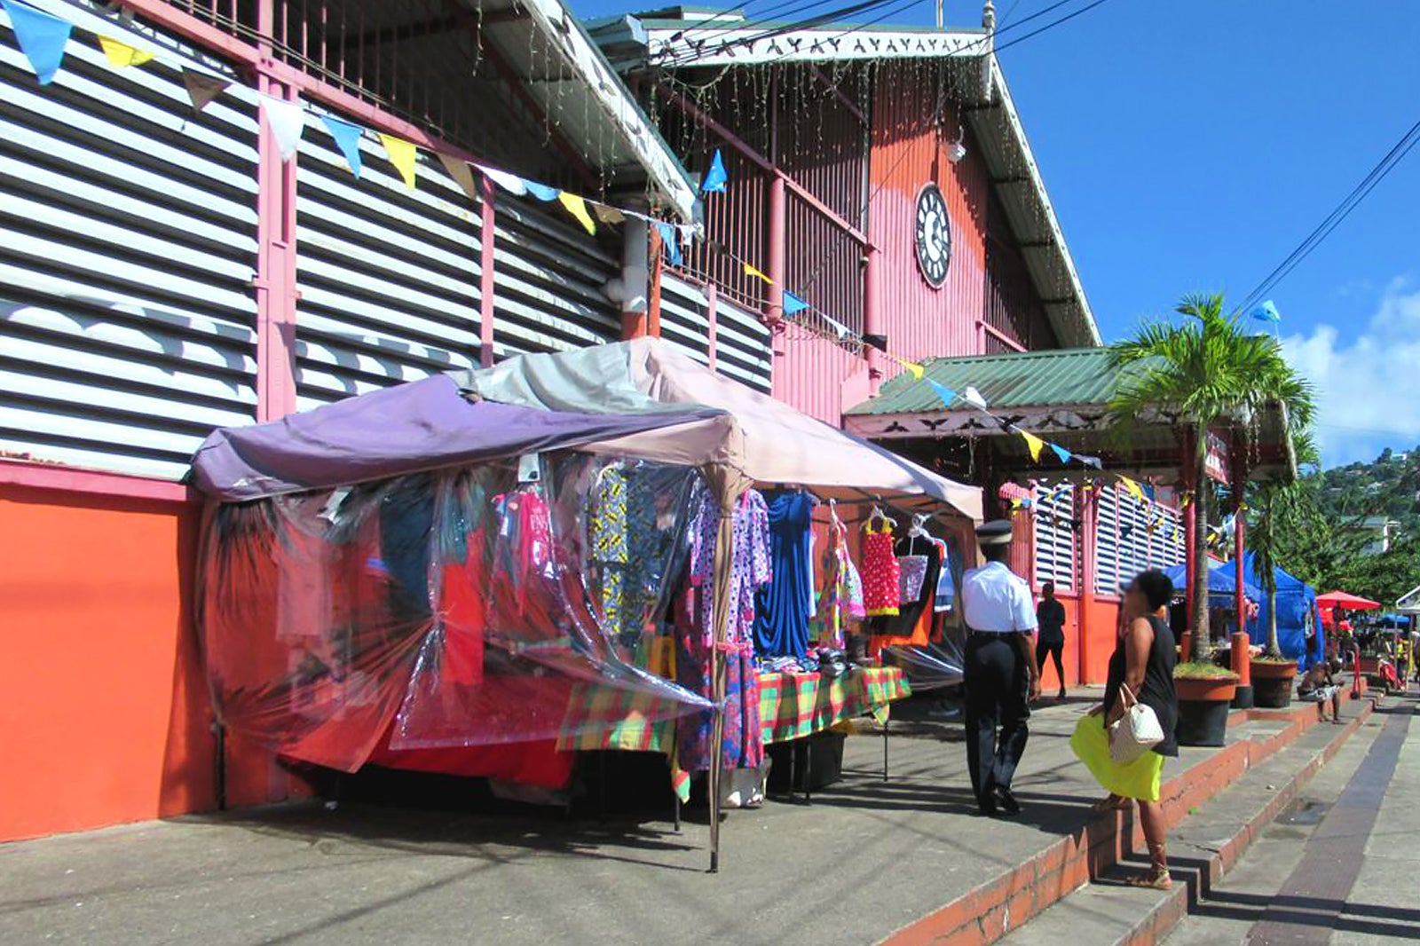
[[[714,638],[728,636],[733,510],[754,484],[873,500],[980,521],[981,491],[726,379],[657,339],[440,375],[254,428],[214,432],[195,483],[243,501],[551,449],[697,467],[720,509]],[[711,699],[724,700],[713,649]],[[720,759],[723,717],[711,759]],[[719,866],[719,766],[710,767],[711,868]]]

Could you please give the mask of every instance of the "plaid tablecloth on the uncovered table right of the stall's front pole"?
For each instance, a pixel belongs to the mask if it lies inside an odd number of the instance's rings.
[[[804,739],[855,716],[888,720],[889,706],[912,693],[900,668],[863,668],[834,679],[818,673],[761,673],[764,741]]]

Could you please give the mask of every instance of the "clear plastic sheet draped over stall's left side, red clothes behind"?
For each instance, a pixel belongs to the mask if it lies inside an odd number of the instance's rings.
[[[214,507],[202,634],[222,720],[354,771],[709,709],[656,666],[697,479],[561,452]]]

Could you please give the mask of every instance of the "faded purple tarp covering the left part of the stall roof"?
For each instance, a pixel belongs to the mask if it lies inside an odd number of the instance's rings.
[[[193,484],[226,501],[568,449],[720,413],[594,415],[470,403],[447,375],[373,391],[281,420],[222,428],[193,459]]]

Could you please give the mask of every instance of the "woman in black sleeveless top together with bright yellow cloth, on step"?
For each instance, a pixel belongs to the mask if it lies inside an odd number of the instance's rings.
[[[1149,845],[1149,874],[1130,881],[1135,886],[1167,891],[1169,857],[1164,845],[1163,805],[1159,804],[1163,760],[1179,754],[1173,730],[1179,723],[1179,696],[1173,686],[1177,660],[1173,631],[1164,615],[1173,599],[1173,581],[1157,570],[1140,572],[1125,594],[1125,628],[1109,658],[1105,702],[1089,712],[1075,726],[1071,747],[1089,767],[1109,797],[1095,805],[1096,811],[1113,811],[1139,804],[1139,821]],[[1133,761],[1116,763],[1110,757],[1109,726],[1125,717],[1132,702],[1125,695],[1153,710],[1163,732],[1163,741],[1154,744]]]

